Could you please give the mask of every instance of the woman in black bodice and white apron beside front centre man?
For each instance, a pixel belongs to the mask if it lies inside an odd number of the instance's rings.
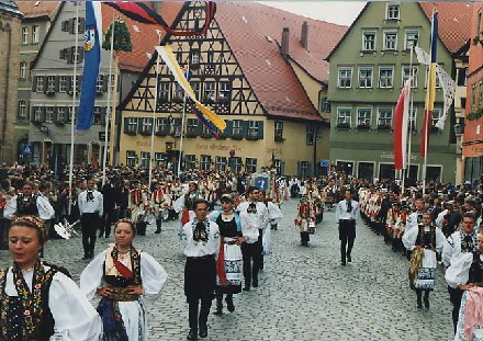
[[[240,245],[246,240],[242,234],[242,223],[238,213],[234,211],[234,200],[229,194],[221,197],[222,211],[210,214],[209,219],[220,228],[220,252],[216,261],[216,311],[223,314],[223,295],[229,312],[235,311],[233,294],[242,292],[243,266]]]

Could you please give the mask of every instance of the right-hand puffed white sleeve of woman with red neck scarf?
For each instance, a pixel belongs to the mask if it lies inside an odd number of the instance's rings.
[[[141,252],[141,279],[145,291],[144,299],[153,303],[159,297],[168,274],[151,255]]]

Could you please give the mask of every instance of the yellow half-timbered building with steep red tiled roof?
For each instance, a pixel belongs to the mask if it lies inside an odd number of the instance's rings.
[[[187,3],[172,27],[201,27],[204,15],[205,2]],[[323,59],[346,30],[259,3],[217,3],[205,35],[167,35],[161,44],[169,44],[190,70],[196,98],[225,120],[226,129],[215,137],[195,118],[154,52],[121,104],[121,162],[176,168],[181,160],[183,169],[274,167],[279,173],[314,174],[328,157],[323,148],[328,120],[321,114],[328,80]]]

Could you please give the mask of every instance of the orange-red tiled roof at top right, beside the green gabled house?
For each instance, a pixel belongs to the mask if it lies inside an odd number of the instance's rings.
[[[419,2],[431,20],[433,9],[438,11],[438,36],[449,52],[458,52],[471,37],[471,4],[467,2]]]

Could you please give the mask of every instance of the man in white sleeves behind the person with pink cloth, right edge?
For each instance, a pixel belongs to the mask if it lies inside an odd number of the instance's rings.
[[[463,216],[461,229],[453,232],[445,240],[442,248],[442,261],[446,266],[450,266],[452,261],[457,260],[462,253],[473,253],[478,251],[478,234],[474,229],[474,215],[467,213]],[[461,298],[464,291],[458,286],[448,285],[449,299],[453,305],[452,320],[454,332],[458,326],[458,316],[461,307]]]

